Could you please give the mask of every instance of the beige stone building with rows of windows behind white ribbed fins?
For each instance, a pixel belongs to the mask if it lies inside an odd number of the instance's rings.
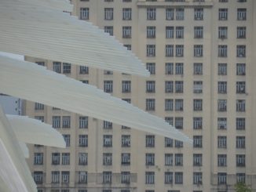
[[[30,147],[38,192],[227,192],[237,181],[256,190],[256,1],[71,3],[73,14],[131,49],[150,77],[26,59],[165,118],[194,143],[26,102],[25,114],[67,143]]]

